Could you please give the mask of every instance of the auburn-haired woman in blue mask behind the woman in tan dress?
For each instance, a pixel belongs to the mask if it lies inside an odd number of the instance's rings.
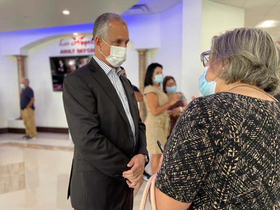
[[[176,90],[177,87],[174,78],[172,76],[164,77],[163,91],[166,93],[168,99],[170,100],[175,94],[178,94],[181,97],[181,99],[177,101],[176,104],[170,106],[167,110],[168,114],[170,115],[170,122],[171,122],[170,132],[173,130],[173,127],[176,124],[179,116],[188,106],[188,102],[185,98],[185,95],[181,92],[176,92]]]

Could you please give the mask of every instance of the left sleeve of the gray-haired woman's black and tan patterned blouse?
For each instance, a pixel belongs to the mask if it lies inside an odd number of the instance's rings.
[[[204,97],[190,102],[164,146],[157,189],[177,201],[193,201],[218,150],[217,119]]]

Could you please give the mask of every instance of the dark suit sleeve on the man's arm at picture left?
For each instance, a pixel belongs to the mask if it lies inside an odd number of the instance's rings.
[[[129,170],[129,158],[100,134],[96,100],[91,90],[79,76],[69,74],[64,79],[62,97],[75,149],[104,174],[122,179],[115,174]]]

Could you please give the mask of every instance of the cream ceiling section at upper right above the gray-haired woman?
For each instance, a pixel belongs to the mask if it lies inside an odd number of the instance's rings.
[[[265,20],[280,21],[280,0],[210,0],[245,9],[245,27],[254,28]],[[221,17],[222,18],[222,17]],[[275,41],[280,40],[280,25],[263,28]]]

